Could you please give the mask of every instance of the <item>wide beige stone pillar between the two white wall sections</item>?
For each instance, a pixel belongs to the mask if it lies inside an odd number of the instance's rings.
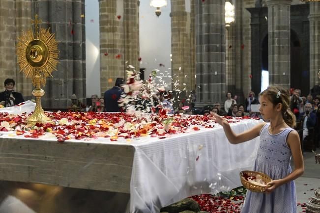
[[[99,0],[101,94],[133,65],[139,71],[139,1]],[[128,61],[127,63],[125,63]]]

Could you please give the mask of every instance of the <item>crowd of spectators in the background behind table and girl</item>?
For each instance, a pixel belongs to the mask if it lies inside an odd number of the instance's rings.
[[[86,107],[86,111],[93,112],[120,112],[123,111],[118,105],[118,101],[123,94],[122,86],[125,84],[123,78],[117,78],[115,86],[107,90],[103,97],[98,95],[91,96],[91,103]],[[8,107],[18,105],[24,102],[21,93],[15,92],[15,81],[13,79],[6,79],[4,81],[4,91],[0,92],[0,106]],[[320,94],[317,94],[314,89],[306,97],[301,96],[299,89],[291,89],[289,92],[290,107],[289,110],[295,115],[297,126],[302,130],[302,140],[308,139],[310,132],[319,135],[320,133]],[[220,116],[234,116],[251,118],[262,118],[259,111],[259,99],[253,91],[250,91],[246,97],[244,104],[237,104],[237,96],[232,92],[227,92],[226,100],[223,103],[215,102],[213,105],[207,105],[202,108],[196,108],[196,95],[193,92],[187,100],[180,100],[179,102],[172,101],[172,93],[166,91],[159,91],[156,96],[158,99],[158,106],[164,108],[168,114],[203,114],[208,116],[216,113]],[[188,106],[188,107],[185,107]],[[256,106],[256,107],[253,107]],[[157,109],[159,110],[159,108]],[[319,139],[318,139],[319,140]]]

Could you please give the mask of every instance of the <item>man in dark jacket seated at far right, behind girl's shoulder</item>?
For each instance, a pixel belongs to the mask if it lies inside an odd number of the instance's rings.
[[[317,120],[317,115],[312,111],[310,103],[304,106],[304,112],[300,113],[298,120],[303,122],[302,140],[304,140],[309,135],[309,129],[315,127]]]

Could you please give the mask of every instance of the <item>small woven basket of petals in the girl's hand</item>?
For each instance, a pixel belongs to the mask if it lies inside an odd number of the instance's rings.
[[[272,181],[268,175],[262,172],[249,170],[240,172],[240,180],[245,188],[253,192],[264,192],[268,187],[267,183]]]

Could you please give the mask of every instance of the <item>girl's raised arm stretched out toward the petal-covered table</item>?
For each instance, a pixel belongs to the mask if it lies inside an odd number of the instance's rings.
[[[213,120],[223,127],[223,130],[225,131],[225,134],[229,142],[232,144],[242,143],[242,142],[251,140],[255,137],[258,137],[262,127],[265,125],[265,123],[263,122],[253,127],[250,130],[247,130],[243,133],[236,134],[232,131],[228,121],[226,121],[223,117],[221,117],[216,113],[212,113],[212,115],[213,115]]]

